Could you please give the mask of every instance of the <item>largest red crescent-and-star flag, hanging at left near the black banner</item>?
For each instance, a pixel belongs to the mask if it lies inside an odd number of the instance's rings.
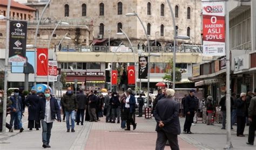
[[[37,48],[37,75],[48,75],[48,48]]]

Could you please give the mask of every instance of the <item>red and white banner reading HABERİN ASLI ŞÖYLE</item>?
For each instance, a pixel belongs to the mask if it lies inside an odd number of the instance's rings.
[[[203,2],[203,54],[225,54],[225,2]]]

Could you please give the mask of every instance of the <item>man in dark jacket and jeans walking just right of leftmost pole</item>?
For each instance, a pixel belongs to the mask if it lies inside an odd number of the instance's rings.
[[[22,127],[22,97],[19,96],[19,90],[14,90],[14,95],[10,97],[10,100],[12,102],[11,107],[11,120],[10,125],[14,125],[14,120],[17,120],[17,129],[19,132],[22,132],[24,128]]]

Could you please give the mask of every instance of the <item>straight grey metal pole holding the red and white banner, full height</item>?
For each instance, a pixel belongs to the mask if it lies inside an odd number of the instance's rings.
[[[225,35],[225,44],[226,44],[226,111],[227,111],[227,143],[226,149],[232,148],[231,142],[231,96],[230,96],[230,15],[227,8],[227,3],[225,2],[225,23],[226,23],[226,35]]]

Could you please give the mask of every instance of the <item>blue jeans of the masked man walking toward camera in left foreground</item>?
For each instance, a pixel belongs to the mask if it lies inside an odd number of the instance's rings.
[[[42,124],[42,138],[43,138],[43,144],[49,144],[50,142],[50,137],[51,137],[51,128],[52,128],[52,123],[46,123],[44,120],[41,120]]]

